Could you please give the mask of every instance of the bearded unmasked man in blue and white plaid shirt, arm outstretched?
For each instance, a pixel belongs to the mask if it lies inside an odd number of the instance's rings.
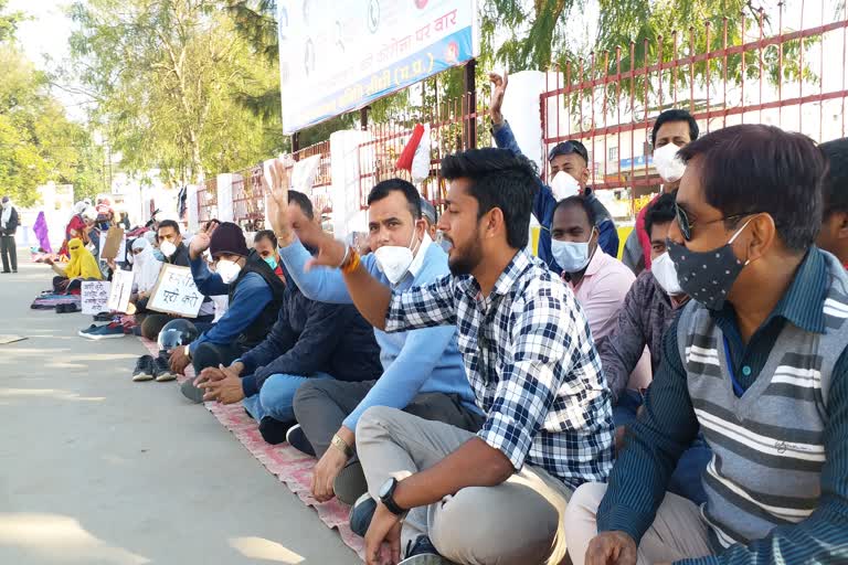
[[[442,175],[451,188],[438,227],[453,244],[452,276],[433,285],[393,294],[354,249],[316,231],[301,234],[320,248],[316,265],[342,270],[374,327],[456,324],[486,414],[475,435],[393,408],[364,413],[357,448],[380,500],[367,562],[380,563],[385,541],[395,562],[405,545],[409,565],[556,564],[571,492],[605,481],[612,468],[611,394],[580,305],[527,249],[530,162],[471,150],[445,158]]]

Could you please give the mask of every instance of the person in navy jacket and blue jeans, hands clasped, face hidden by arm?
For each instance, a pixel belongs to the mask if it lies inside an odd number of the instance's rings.
[[[289,191],[288,200],[307,218],[314,218],[306,194]],[[265,257],[266,263],[268,257],[273,255]],[[262,437],[280,444],[295,424],[293,401],[301,384],[317,379],[371,381],[381,371],[374,332],[352,305],[309,300],[289,280],[268,337],[229,367],[204,369],[194,384],[206,391],[204,401],[242,401],[259,423]]]

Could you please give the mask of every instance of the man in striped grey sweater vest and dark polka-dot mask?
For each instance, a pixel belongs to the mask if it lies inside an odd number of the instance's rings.
[[[668,253],[692,297],[666,333],[608,486],[584,484],[574,565],[848,562],[848,275],[815,247],[825,158],[777,128],[725,128],[688,163]],[[700,508],[667,493],[699,424]]]

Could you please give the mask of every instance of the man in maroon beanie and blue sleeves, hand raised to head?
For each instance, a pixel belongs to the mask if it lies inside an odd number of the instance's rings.
[[[171,352],[170,366],[183,374],[189,363],[200,374],[209,366],[230,365],[242,353],[259,344],[277,321],[285,286],[271,267],[247,249],[244,232],[224,222],[198,233],[189,247],[191,274],[198,290],[206,296],[227,295],[230,308],[209,330],[186,348]],[[212,254],[215,273],[210,273],[203,252]],[[203,399],[203,390],[189,380],[183,395]]]

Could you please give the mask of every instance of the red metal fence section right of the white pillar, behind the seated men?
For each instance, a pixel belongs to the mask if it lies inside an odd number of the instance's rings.
[[[702,132],[759,122],[817,141],[845,137],[848,14],[826,23],[824,4],[822,13],[819,25],[803,29],[809,22],[802,15],[802,31],[786,32],[781,3],[771,35],[761,11],[753,21],[743,18],[738,30],[727,19],[718,30],[707,22],[656,45],[630,43],[548,73],[540,100],[545,151],[581,140],[592,185],[627,189],[622,196],[634,212],[659,188],[649,145],[665,109],[688,109]]]

